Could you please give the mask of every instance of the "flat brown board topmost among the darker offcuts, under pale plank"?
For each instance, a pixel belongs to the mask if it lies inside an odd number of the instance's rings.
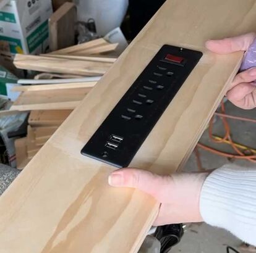
[[[72,110],[33,110],[28,118],[31,127],[59,126]]]

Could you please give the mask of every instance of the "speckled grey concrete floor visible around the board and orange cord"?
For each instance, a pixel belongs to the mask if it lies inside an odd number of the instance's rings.
[[[231,103],[226,104],[226,113],[236,116],[256,118],[256,109],[254,110],[242,110],[234,107]],[[231,133],[234,141],[237,143],[245,144],[250,147],[256,148],[256,124],[249,122],[240,122],[237,120],[229,120],[231,126]],[[215,122],[214,131],[216,135],[223,136],[223,126],[221,120],[217,119]],[[212,147],[216,147],[226,152],[232,152],[226,144],[214,144],[208,138],[208,133],[205,131],[200,142]],[[244,165],[247,167],[254,167],[256,165],[244,160],[230,161],[224,157],[216,156],[207,151],[200,150],[203,168],[212,169],[221,167],[221,165],[227,163]],[[184,171],[197,171],[197,163],[194,154],[188,160]],[[17,170],[6,168],[0,168],[0,194],[4,188],[11,182],[11,180],[17,175]],[[213,228],[205,223],[188,225],[187,231],[182,238],[181,243],[174,247],[172,253],[225,253],[226,246],[237,247],[242,242],[232,236],[228,231]]]

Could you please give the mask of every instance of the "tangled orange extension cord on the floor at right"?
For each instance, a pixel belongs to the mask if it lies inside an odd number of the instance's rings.
[[[256,155],[244,154],[244,152],[242,152],[239,149],[239,146],[242,146],[242,145],[238,145],[233,142],[233,140],[231,138],[231,130],[230,130],[227,118],[232,118],[234,120],[243,120],[243,121],[247,121],[247,122],[254,122],[254,123],[256,123],[256,120],[254,120],[252,118],[244,118],[244,117],[236,117],[236,116],[232,116],[232,115],[226,115],[223,101],[221,102],[221,113],[215,112],[215,115],[221,117],[221,120],[223,122],[223,126],[224,126],[226,133],[223,138],[216,138],[215,136],[213,136],[212,130],[213,130],[213,118],[214,117],[212,117],[210,120],[210,123],[209,123],[209,128],[208,128],[208,133],[209,133],[210,139],[215,143],[229,143],[231,145],[231,147],[233,147],[236,154],[230,154],[230,153],[218,151],[216,149],[213,149],[213,147],[208,147],[201,143],[198,143],[197,147],[195,147],[195,157],[197,159],[197,166],[198,166],[199,170],[203,170],[203,167],[202,167],[202,162],[200,159],[198,147],[205,149],[206,151],[212,152],[213,154],[217,154],[219,156],[227,157],[230,159],[244,159],[244,160],[249,160],[250,162],[256,162]],[[246,149],[246,151],[250,151],[250,148],[248,147],[248,149]]]

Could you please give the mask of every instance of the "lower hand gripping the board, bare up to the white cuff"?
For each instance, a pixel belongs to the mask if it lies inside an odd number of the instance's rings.
[[[199,201],[208,173],[176,173],[159,176],[144,170],[123,168],[109,176],[109,185],[136,188],[161,203],[154,225],[202,222]]]

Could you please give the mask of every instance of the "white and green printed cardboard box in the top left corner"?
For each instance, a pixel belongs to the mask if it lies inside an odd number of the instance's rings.
[[[51,0],[11,0],[0,11],[0,41],[12,54],[40,54],[49,47]]]

